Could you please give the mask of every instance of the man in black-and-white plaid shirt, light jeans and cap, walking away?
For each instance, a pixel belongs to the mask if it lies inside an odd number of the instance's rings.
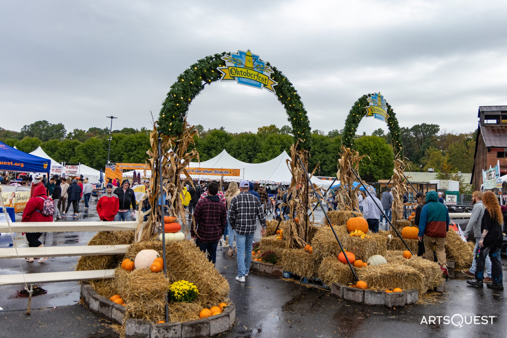
[[[252,242],[257,228],[257,218],[262,226],[261,236],[266,233],[266,218],[261,202],[256,196],[248,193],[248,189],[248,181],[241,181],[239,183],[240,193],[231,200],[229,208],[229,223],[236,232],[236,261],[238,263],[236,280],[242,283],[250,270]]]

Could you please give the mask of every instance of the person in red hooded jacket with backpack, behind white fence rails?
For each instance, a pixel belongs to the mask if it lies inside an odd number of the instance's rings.
[[[37,177],[37,176],[36,176]],[[41,176],[42,178],[42,176]],[[46,187],[42,183],[35,187],[33,190],[33,196],[28,202],[26,202],[25,210],[23,210],[23,218],[22,222],[52,222],[53,215],[45,216],[42,214],[44,208],[44,201],[46,201],[48,197],[46,196]],[[39,247],[43,246],[39,238],[42,236],[42,233],[26,233],[26,240],[28,241],[29,247]],[[33,258],[25,258],[26,261],[32,262]],[[38,260],[39,263],[42,263],[48,259],[48,257],[44,257]]]

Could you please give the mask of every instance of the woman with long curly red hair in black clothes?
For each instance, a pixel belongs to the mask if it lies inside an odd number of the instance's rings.
[[[485,192],[482,195],[482,203],[486,210],[481,221],[481,239],[477,248],[477,268],[475,278],[466,282],[473,286],[483,286],[484,265],[486,256],[491,259],[491,278],[492,282],[486,284],[492,289],[503,290],[502,281],[502,263],[500,259],[500,249],[502,247],[503,235],[501,224],[503,224],[503,215],[498,204],[496,195],[492,192]]]

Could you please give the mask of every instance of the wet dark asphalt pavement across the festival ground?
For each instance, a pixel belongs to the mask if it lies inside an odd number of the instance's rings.
[[[95,203],[79,219],[98,220]],[[82,208],[82,204],[81,204]],[[322,217],[317,213],[316,217]],[[44,245],[86,245],[92,232],[47,233]],[[259,235],[257,235],[258,237]],[[257,238],[256,238],[257,240]],[[22,240],[21,240],[22,241]],[[0,247],[9,240],[0,236]],[[27,245],[26,245],[27,246]],[[79,257],[54,257],[43,264],[24,259],[0,260],[1,274],[55,272],[73,270]],[[502,257],[505,274],[507,259]],[[340,301],[330,291],[291,280],[252,273],[239,283],[236,259],[224,246],[217,253],[217,269],[228,279],[229,297],[236,304],[236,323],[222,336],[227,337],[504,337],[507,336],[505,291],[467,286],[464,280],[449,280],[443,302],[413,305],[399,309],[356,305]],[[98,318],[79,302],[79,284],[75,282],[41,285],[47,294],[34,296],[31,315],[26,316],[28,298],[18,295],[22,286],[0,287],[0,337],[117,337],[108,322]],[[488,324],[421,324],[429,316],[455,317],[469,321],[470,316],[495,316]],[[491,320],[488,318],[488,320]],[[481,320],[479,320],[481,322]]]

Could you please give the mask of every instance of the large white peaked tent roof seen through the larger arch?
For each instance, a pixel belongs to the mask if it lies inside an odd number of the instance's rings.
[[[240,169],[241,176],[224,176],[225,181],[241,181],[243,179],[266,184],[289,184],[291,183],[292,174],[288,170],[286,160],[291,159],[290,156],[284,151],[276,158],[264,163],[246,163],[232,157],[225,149],[219,155],[210,160],[201,163],[191,162],[188,167],[190,168],[213,168],[213,169]],[[136,171],[141,172],[142,170]],[[147,170],[146,174],[151,177],[151,171]],[[132,177],[133,171],[123,173],[124,177]],[[220,179],[220,176],[208,175],[190,175],[193,179],[213,180]],[[331,181],[321,180],[317,177],[312,177],[312,183],[323,189],[328,189]]]

